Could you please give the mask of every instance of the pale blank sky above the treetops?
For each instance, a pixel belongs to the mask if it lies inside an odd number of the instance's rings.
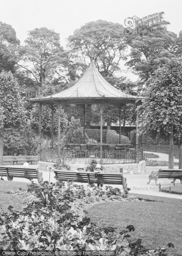
[[[0,21],[10,24],[21,44],[29,30],[47,27],[60,34],[63,47],[75,29],[89,21],[107,20],[124,25],[127,17],[164,12],[168,30],[182,30],[181,0],[0,0]],[[131,74],[128,74],[130,76]]]

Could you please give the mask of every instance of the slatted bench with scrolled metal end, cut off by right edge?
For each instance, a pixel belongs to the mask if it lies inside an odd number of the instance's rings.
[[[149,182],[147,184],[149,184],[151,180],[155,180],[156,182],[159,178],[173,178],[171,183],[175,183],[175,180],[179,179],[182,184],[182,169],[159,169],[157,172],[151,172],[151,175],[148,177]]]

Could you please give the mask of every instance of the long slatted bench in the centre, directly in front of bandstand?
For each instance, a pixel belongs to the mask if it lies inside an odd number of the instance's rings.
[[[122,174],[114,173],[94,173],[94,172],[69,172],[55,170],[55,178],[58,181],[73,181],[80,183],[88,183],[89,185],[96,183],[98,186],[103,184],[122,185],[127,190],[126,178]]]

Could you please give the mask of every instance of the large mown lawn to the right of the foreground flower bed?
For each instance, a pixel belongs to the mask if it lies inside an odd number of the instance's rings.
[[[100,227],[117,227],[118,233],[132,224],[135,231],[131,233],[131,241],[141,238],[145,247],[151,249],[165,247],[172,242],[174,249],[170,248],[168,255],[182,256],[179,234],[182,230],[182,201],[148,195],[136,196],[148,201],[97,204],[88,209],[88,217]]]

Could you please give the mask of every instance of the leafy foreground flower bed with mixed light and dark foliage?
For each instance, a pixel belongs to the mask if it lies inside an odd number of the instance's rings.
[[[164,248],[143,248],[141,239],[129,243],[132,225],[116,235],[114,227],[97,227],[84,216],[88,203],[138,200],[118,188],[44,182],[43,186],[31,183],[28,189],[14,193],[22,198],[24,206],[21,211],[9,206],[9,212],[0,215],[0,250],[113,250],[121,256],[165,255]]]

